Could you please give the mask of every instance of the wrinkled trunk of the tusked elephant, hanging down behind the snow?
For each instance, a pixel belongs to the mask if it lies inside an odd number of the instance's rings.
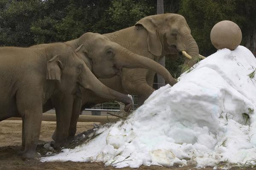
[[[189,56],[192,57],[192,59],[185,58],[183,67],[181,68],[181,73],[183,73],[198,62],[199,50],[197,43],[189,32],[183,34],[180,37],[180,40],[181,42],[185,42],[185,51],[187,54],[189,54]]]

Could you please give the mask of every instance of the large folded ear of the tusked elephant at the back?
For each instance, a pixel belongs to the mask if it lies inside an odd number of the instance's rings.
[[[162,44],[157,33],[156,22],[152,17],[145,17],[135,24],[138,29],[140,29],[140,25],[148,31],[148,51],[151,54],[160,56],[162,54]]]

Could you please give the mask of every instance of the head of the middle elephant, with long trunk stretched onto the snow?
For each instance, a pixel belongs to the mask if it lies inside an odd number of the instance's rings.
[[[170,85],[177,82],[159,63],[134,54],[101,34],[85,33],[66,43],[77,48],[76,52],[97,78],[120,75],[122,68],[146,68],[160,74]]]

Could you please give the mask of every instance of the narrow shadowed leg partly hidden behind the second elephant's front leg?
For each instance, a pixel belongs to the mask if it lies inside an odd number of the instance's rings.
[[[73,111],[72,111],[72,116],[71,116],[71,121],[70,121],[70,128],[68,130],[69,139],[73,139],[73,136],[75,136],[75,134],[76,134],[76,124],[79,119],[81,107],[82,107],[82,99],[80,97],[76,96],[74,103],[73,103]]]

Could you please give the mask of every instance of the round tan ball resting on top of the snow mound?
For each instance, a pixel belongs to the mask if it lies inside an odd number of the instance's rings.
[[[242,32],[236,23],[225,20],[213,26],[210,37],[215,48],[234,50],[241,43]]]

